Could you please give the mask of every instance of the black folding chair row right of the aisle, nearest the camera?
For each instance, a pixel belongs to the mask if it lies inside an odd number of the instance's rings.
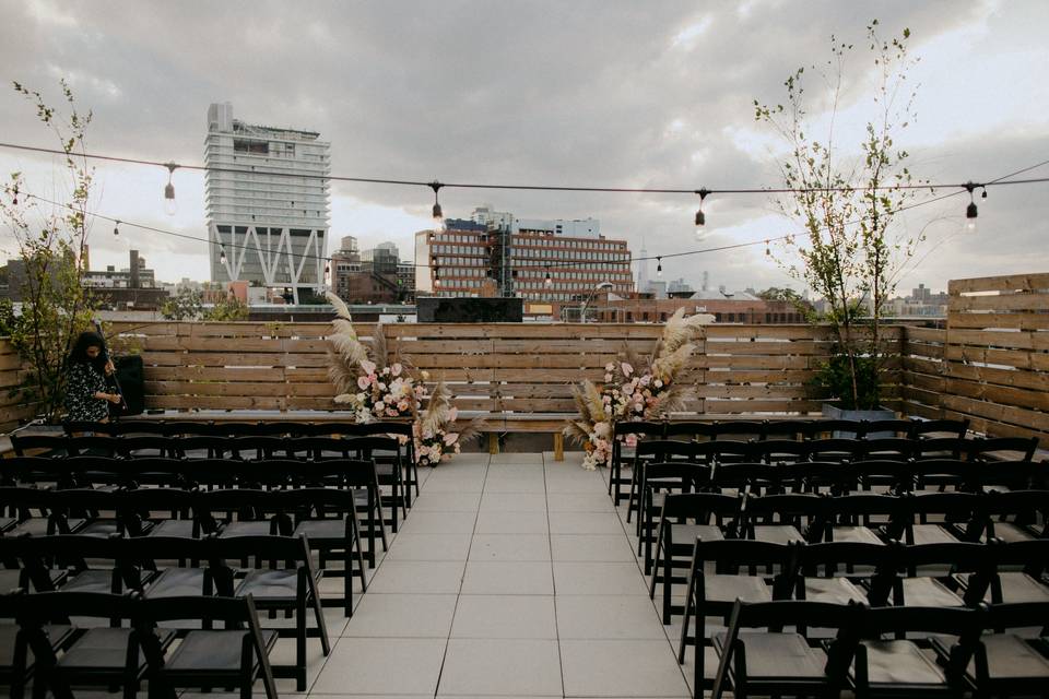
[[[813,636],[814,627],[829,637]],[[900,609],[738,601],[714,639],[712,696],[1045,696],[1047,627],[1049,603]]]

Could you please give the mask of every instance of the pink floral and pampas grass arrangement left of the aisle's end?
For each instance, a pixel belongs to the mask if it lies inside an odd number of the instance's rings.
[[[459,411],[451,405],[445,382],[437,381],[428,392],[426,371],[404,358],[387,364],[381,327],[369,343],[361,342],[346,305],[330,292],[328,300],[335,307],[334,332],[328,336],[328,377],[335,386],[335,403],[349,406],[357,423],[411,418],[420,465],[435,466],[458,454],[462,442],[478,434],[480,418],[457,429]]]

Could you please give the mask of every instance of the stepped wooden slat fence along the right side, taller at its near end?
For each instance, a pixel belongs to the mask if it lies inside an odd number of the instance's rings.
[[[1049,447],[1049,274],[956,280],[946,330],[907,328],[904,411]]]

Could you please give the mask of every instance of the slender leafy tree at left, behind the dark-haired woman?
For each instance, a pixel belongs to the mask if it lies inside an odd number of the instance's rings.
[[[26,369],[20,387],[22,400],[36,403],[39,413],[54,422],[60,417],[64,398],[66,357],[76,336],[91,327],[97,303],[84,288],[80,261],[87,238],[89,197],[93,169],[84,156],[84,135],[91,112],[76,109],[72,91],[60,81],[63,109],[48,106],[39,92],[14,83],[28,99],[40,122],[58,139],[64,153],[60,173],[48,180],[49,199],[31,192],[21,173],[12,173],[0,197],[0,218],[12,233],[23,265],[22,274],[9,273],[9,284],[19,284],[19,315],[3,313],[5,330]],[[57,190],[57,193],[50,193]]]

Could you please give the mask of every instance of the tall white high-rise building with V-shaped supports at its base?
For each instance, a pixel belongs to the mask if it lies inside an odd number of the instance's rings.
[[[325,283],[330,145],[314,131],[252,126],[208,108],[205,199],[211,280],[292,289]]]

